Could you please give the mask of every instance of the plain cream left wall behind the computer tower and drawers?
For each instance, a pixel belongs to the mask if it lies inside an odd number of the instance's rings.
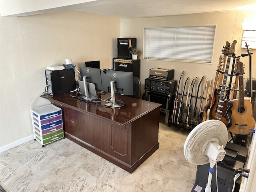
[[[46,86],[46,66],[65,58],[112,68],[120,19],[81,12],[1,17],[0,146],[31,136],[30,104]],[[79,63],[79,64],[78,64]],[[48,103],[35,99],[33,107]]]

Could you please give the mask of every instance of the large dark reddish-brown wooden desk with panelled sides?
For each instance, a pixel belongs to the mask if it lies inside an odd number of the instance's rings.
[[[66,138],[128,172],[159,148],[160,104],[122,96],[126,106],[116,109],[80,102],[70,93],[41,97],[62,108]]]

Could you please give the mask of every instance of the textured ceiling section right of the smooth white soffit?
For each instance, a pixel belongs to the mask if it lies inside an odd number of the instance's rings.
[[[256,10],[256,0],[96,0],[69,8],[104,16],[138,18],[250,8]]]

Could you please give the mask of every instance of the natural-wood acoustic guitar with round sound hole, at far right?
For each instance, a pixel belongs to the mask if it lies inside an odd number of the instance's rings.
[[[250,128],[254,129],[255,120],[252,116],[252,103],[244,100],[244,64],[238,63],[239,98],[233,100],[232,126],[228,128],[235,134],[249,134]]]

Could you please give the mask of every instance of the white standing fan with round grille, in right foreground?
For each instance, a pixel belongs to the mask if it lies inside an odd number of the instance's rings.
[[[200,123],[186,138],[184,144],[186,160],[195,165],[204,165],[210,162],[205,192],[211,192],[214,165],[224,159],[226,154],[224,148],[227,142],[228,130],[226,125],[219,120],[207,120]]]

